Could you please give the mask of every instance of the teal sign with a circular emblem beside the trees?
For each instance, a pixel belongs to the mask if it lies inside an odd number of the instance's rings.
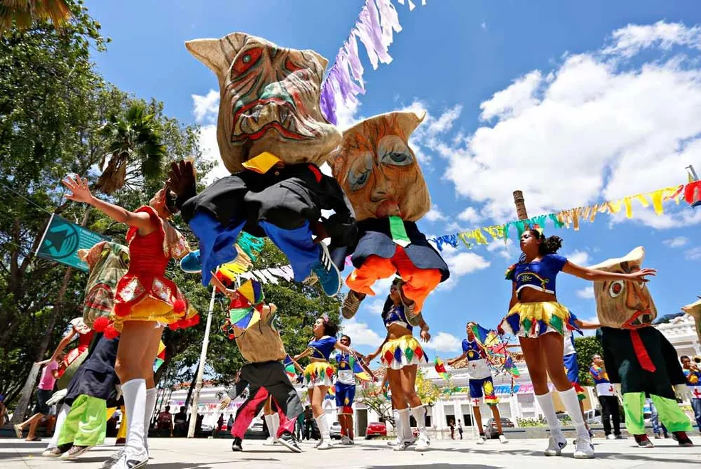
[[[110,238],[53,214],[36,255],[88,272],[88,264],[78,258],[78,249],[90,249],[100,241]]]

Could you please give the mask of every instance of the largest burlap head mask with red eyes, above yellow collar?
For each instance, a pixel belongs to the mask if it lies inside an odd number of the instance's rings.
[[[341,142],[319,107],[328,61],[318,53],[244,33],[185,46],[219,80],[217,142],[229,172],[263,152],[290,164],[321,164]]]

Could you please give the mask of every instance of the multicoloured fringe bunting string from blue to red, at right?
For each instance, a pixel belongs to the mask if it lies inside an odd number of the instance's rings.
[[[509,231],[516,228],[516,232],[520,237],[529,226],[544,227],[548,221],[551,221],[555,228],[569,228],[574,231],[579,230],[582,221],[592,223],[597,214],[618,214],[620,211],[625,213],[626,218],[633,217],[633,202],[637,201],[645,208],[653,206],[655,214],[658,216],[664,213],[663,203],[665,201],[674,200],[677,204],[681,199],[684,199],[687,204],[697,206],[701,204],[701,181],[690,181],[689,184],[680,184],[679,186],[665,187],[656,191],[648,192],[647,194],[635,194],[625,196],[616,201],[603,202],[593,204],[586,207],[577,207],[576,209],[562,210],[553,214],[539,215],[529,218],[528,220],[509,221],[504,225],[482,226],[470,231],[462,231],[443,236],[429,238],[428,241],[435,243],[438,251],[443,250],[443,246],[448,245],[457,248],[460,243],[472,249],[474,244],[489,244],[489,237],[494,240],[503,240],[506,242],[509,239]]]

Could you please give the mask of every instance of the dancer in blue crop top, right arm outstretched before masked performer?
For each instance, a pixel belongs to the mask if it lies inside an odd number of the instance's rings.
[[[584,280],[643,282],[655,271],[645,269],[635,273],[608,273],[583,268],[557,255],[561,246],[561,238],[545,238],[539,229],[529,229],[521,235],[523,254],[519,263],[507,270],[507,280],[512,281],[512,299],[499,331],[519,337],[536,400],[551,431],[545,455],[560,455],[567,445],[548,388],[550,376],[577,429],[574,457],[593,458],[591,437],[579,408],[577,392],[565,374],[563,358],[565,329],[578,330],[579,327],[574,315],[557,302],[555,280],[558,273],[564,272]]]

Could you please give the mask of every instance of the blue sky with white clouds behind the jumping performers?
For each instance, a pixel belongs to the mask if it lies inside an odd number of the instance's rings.
[[[243,31],[332,62],[363,3],[86,2],[113,38],[95,55],[100,71],[123,90],[162,100],[168,115],[202,124],[210,158],[217,157],[217,83],[183,43]],[[685,183],[688,164],[701,172],[701,9],[694,4],[416,0],[410,12],[393,3],[403,26],[390,47],[394,60],[372,70],[363,58],[367,93],[343,125],[392,110],[427,112],[412,138],[435,204],[420,221],[427,235],[515,218],[514,189],[524,190],[534,216]],[[602,214],[578,232],[559,230],[561,253],[591,265],[644,246],[645,265],[659,270],[650,283],[658,310],[677,312],[701,293],[701,209],[665,209],[655,216],[635,204],[632,220]],[[517,251],[492,243],[445,253],[452,280],[425,304],[430,347],[457,355],[467,320],[497,324],[509,302],[504,270]],[[588,287],[561,275],[559,300],[594,317]],[[379,303],[366,300],[346,325],[363,352],[384,335]]]

